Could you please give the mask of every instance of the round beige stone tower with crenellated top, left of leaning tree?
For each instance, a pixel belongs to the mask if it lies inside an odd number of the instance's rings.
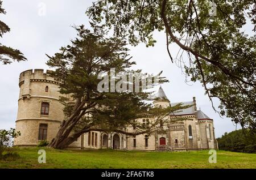
[[[49,71],[24,71],[19,76],[18,115],[16,131],[21,135],[14,145],[37,145],[40,140],[52,140],[60,122],[65,119],[64,105],[59,102],[59,85]]]

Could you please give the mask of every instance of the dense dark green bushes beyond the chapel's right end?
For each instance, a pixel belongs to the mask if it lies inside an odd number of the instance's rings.
[[[248,130],[237,130],[225,133],[217,138],[218,148],[226,151],[256,153],[256,136]]]

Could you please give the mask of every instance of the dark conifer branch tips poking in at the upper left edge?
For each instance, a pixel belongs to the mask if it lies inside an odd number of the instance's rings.
[[[0,0],[0,14],[6,14],[5,10],[2,8],[2,1]],[[3,36],[4,33],[10,32],[10,28],[4,22],[0,20],[0,37]],[[27,59],[23,56],[23,54],[11,47],[7,47],[0,43],[0,62],[4,65],[10,64],[12,61],[26,61]]]

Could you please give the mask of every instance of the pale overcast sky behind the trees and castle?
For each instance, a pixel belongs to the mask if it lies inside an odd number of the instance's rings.
[[[42,11],[44,5],[45,15]],[[3,0],[7,14],[0,15],[0,19],[9,25],[11,32],[0,38],[0,43],[19,49],[28,61],[0,65],[0,129],[15,127],[20,72],[35,68],[48,69],[45,54],[53,55],[76,37],[72,25],[85,24],[89,28],[85,10],[90,5],[92,1],[89,0]],[[144,44],[130,47],[130,55],[137,62],[136,68],[154,74],[163,70],[163,75],[170,83],[162,87],[171,102],[192,101],[195,96],[197,108],[214,119],[216,137],[235,130],[236,126],[229,118],[221,118],[214,112],[200,83],[185,83],[180,68],[171,63],[168,57],[164,33],[156,32],[154,37],[158,42],[153,48],[146,48]],[[172,56],[176,57],[179,48],[172,45],[170,49]],[[214,99],[214,106],[217,108],[218,105],[219,101]]]

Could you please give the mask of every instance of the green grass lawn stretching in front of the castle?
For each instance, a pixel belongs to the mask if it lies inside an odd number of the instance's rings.
[[[38,150],[46,150],[46,164]],[[217,151],[217,163],[208,151],[138,152],[114,150],[69,151],[48,148],[13,148],[20,158],[0,160],[0,168],[256,168],[256,154]]]

